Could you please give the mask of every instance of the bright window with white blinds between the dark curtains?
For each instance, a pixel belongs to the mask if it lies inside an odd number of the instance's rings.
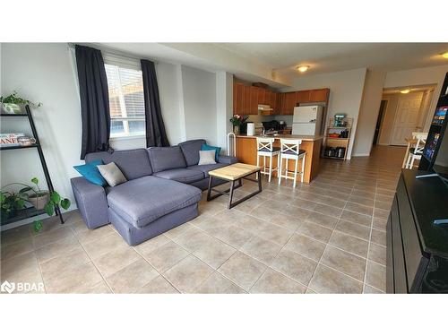
[[[142,71],[105,65],[108,76],[110,137],[145,134]]]

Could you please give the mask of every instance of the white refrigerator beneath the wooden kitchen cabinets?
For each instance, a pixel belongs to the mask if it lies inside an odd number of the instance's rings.
[[[294,108],[292,134],[320,135],[323,120],[322,106],[304,106]]]

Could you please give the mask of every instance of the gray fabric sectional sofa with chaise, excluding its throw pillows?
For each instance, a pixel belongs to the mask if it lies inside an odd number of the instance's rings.
[[[171,147],[88,154],[86,162],[115,162],[128,181],[102,187],[83,177],[71,179],[74,198],[87,227],[112,223],[134,246],[193,220],[198,215],[201,191],[208,187],[208,172],[237,162],[234,157],[220,156],[214,165],[198,166],[204,142],[191,140]],[[213,179],[213,185],[224,182]]]

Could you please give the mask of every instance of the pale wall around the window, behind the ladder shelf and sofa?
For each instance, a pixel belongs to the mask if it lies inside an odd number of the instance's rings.
[[[41,108],[33,110],[33,116],[48,170],[56,190],[73,201],[70,178],[78,176],[73,166],[82,164],[82,121],[67,44],[8,43],[0,51],[1,94],[9,95],[17,90],[23,97],[43,103]],[[186,139],[204,138],[211,144],[218,143],[216,74],[163,62],[156,64],[156,71],[169,142],[177,144]],[[226,87],[230,88],[224,99],[227,105],[220,110],[231,113],[232,82],[226,82]],[[223,118],[220,119],[222,122]],[[2,120],[1,130],[30,134],[26,120],[15,118]],[[117,150],[142,148],[145,139],[112,140],[111,144]],[[0,158],[1,185],[27,182],[31,177],[45,181],[37,151],[1,151]]]

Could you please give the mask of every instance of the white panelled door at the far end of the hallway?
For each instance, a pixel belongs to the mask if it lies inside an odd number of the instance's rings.
[[[417,127],[420,104],[421,96],[400,99],[392,129],[392,145],[406,145],[407,142],[405,139],[412,137],[412,132],[414,132]]]

